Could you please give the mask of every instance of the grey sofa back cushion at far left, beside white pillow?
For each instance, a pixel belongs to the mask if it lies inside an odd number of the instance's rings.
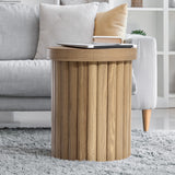
[[[38,27],[38,8],[0,4],[0,60],[33,59]]]

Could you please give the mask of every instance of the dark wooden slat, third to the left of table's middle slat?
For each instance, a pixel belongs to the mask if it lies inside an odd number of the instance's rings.
[[[60,63],[61,72],[61,91],[60,91],[60,114],[61,114],[61,159],[69,159],[68,144],[69,144],[69,118],[68,118],[68,62]]]

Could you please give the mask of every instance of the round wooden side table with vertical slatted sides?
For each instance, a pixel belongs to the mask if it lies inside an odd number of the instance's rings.
[[[130,155],[136,48],[52,47],[51,154],[113,161]]]

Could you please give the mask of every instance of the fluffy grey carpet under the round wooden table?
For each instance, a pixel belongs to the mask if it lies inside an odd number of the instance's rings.
[[[50,158],[49,129],[0,130],[0,175],[175,174],[175,131],[132,131],[132,155],[114,162]]]

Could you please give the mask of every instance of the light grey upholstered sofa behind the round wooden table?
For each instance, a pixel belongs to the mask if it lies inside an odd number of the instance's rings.
[[[0,5],[0,110],[50,110],[50,60],[34,60],[38,32],[38,8]],[[156,106],[156,43],[135,35],[127,40],[138,45],[132,109],[147,112]]]

